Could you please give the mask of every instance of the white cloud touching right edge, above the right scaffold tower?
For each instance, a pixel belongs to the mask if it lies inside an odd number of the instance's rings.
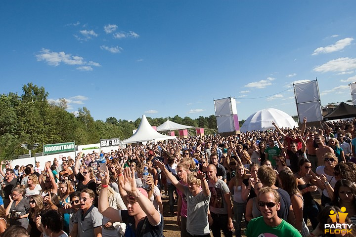
[[[316,66],[313,71],[318,73],[326,72],[345,72],[356,69],[355,58],[338,58],[330,60],[321,66]]]

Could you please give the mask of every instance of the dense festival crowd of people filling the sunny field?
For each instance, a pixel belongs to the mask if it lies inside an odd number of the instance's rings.
[[[106,166],[95,151],[1,161],[0,235],[162,237],[165,213],[181,237],[356,236],[356,121],[306,123],[129,145]],[[326,229],[345,213],[349,231]]]

